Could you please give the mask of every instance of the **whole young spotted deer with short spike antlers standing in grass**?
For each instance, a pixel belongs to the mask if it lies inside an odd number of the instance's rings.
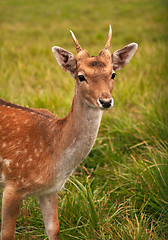
[[[114,105],[115,71],[124,68],[138,45],[131,43],[110,53],[111,25],[98,56],[81,48],[72,31],[77,55],[54,46],[61,68],[75,79],[69,114],[57,118],[46,109],[34,109],[0,99],[1,239],[15,239],[21,202],[38,196],[45,230],[59,240],[58,192],[91,151],[104,110]]]

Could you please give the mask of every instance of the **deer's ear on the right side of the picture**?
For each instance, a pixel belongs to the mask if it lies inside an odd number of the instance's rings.
[[[117,71],[122,69],[129,63],[135,51],[137,50],[138,44],[131,43],[112,54],[113,70]]]

